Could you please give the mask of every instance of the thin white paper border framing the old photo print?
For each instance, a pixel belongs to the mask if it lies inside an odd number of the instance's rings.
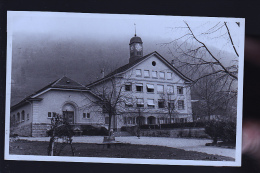
[[[11,155],[9,154],[9,129],[10,129],[10,97],[11,97],[11,68],[12,68],[12,17],[17,14],[23,16],[34,15],[55,15],[82,17],[80,13],[60,13],[60,12],[7,12],[7,63],[6,63],[6,119],[5,119],[5,160],[27,160],[27,161],[60,161],[60,162],[90,162],[90,163],[124,163],[124,164],[154,164],[154,165],[196,165],[196,166],[241,166],[241,145],[242,145],[242,106],[243,106],[243,71],[244,71],[244,40],[245,40],[245,19],[243,18],[217,18],[217,17],[179,17],[164,16],[178,20],[217,20],[240,22],[240,46],[239,52],[239,72],[238,72],[238,101],[237,101],[237,136],[236,136],[236,157],[235,161],[197,161],[197,160],[168,160],[168,159],[132,159],[132,158],[101,158],[101,157],[68,157],[68,156],[35,156],[35,155]],[[136,15],[126,14],[83,14],[86,18],[93,16],[100,18],[121,18],[121,16],[132,18]],[[141,19],[157,19],[162,16],[138,15]]]

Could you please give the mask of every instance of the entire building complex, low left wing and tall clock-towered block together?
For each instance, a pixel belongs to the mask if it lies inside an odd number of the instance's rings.
[[[108,127],[109,112],[100,105],[104,100],[114,104],[114,130],[137,124],[193,121],[192,81],[159,53],[143,56],[140,37],[131,38],[129,48],[129,63],[98,81],[84,86],[62,77],[12,106],[12,132],[44,136],[55,114],[68,116],[78,128],[90,124]]]

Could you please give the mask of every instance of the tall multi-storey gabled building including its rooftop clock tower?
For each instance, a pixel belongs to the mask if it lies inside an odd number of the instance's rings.
[[[101,95],[107,88],[115,89],[114,97],[119,99],[114,103],[113,128],[192,122],[192,81],[159,53],[143,56],[142,44],[140,37],[131,38],[129,63],[88,85]]]

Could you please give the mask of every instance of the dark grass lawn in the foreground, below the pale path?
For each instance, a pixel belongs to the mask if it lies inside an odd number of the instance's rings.
[[[10,142],[10,154],[46,156],[48,145],[48,142],[17,140]],[[73,143],[73,148],[77,157],[234,161],[230,157],[152,145],[122,144],[106,148],[96,144]],[[70,146],[67,145],[60,155],[72,156]]]

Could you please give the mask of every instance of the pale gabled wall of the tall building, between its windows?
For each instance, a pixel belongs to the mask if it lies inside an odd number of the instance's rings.
[[[153,65],[153,62],[156,63],[156,65]],[[137,76],[136,70],[141,70],[141,76]],[[149,77],[144,76],[144,70],[149,70]],[[157,77],[152,77],[152,71],[157,71]],[[165,73],[165,78],[159,77],[159,72]],[[167,72],[172,73],[172,78],[167,79]],[[192,122],[192,110],[191,110],[191,96],[190,96],[190,86],[189,84],[185,83],[185,80],[180,78],[175,72],[173,72],[167,65],[165,65],[164,62],[159,60],[156,56],[151,56],[150,58],[146,59],[141,64],[137,65],[133,69],[124,72],[122,74],[118,74],[115,79],[109,79],[104,83],[99,83],[96,86],[93,86],[93,90],[101,89],[105,86],[105,88],[112,87],[111,80],[114,80],[113,83],[116,85],[117,88],[117,94],[119,93],[119,90],[121,89],[121,101],[117,106],[117,112],[119,115],[116,116],[116,128],[121,128],[125,124],[125,119],[128,117],[137,117],[141,114],[144,119],[144,123],[148,123],[148,117],[153,116],[155,117],[154,122],[156,124],[159,123],[159,118],[166,118],[168,117],[168,109],[165,108],[159,108],[158,107],[158,100],[164,99],[165,104],[168,100],[175,100],[175,105],[177,106],[178,100],[184,101],[184,109],[178,110],[178,118],[185,119],[185,121]],[[125,90],[125,84],[131,83],[132,90],[126,91]],[[143,92],[136,91],[136,85],[143,84]],[[154,92],[150,93],[147,91],[147,84],[154,85]],[[158,85],[164,86],[164,92],[160,93],[158,91]],[[171,95],[167,94],[167,86],[171,85],[174,87],[174,92]],[[181,86],[183,87],[183,94],[178,94],[177,87]],[[168,99],[170,97],[170,99]],[[138,98],[143,98],[144,100],[144,107],[141,108],[141,111],[139,113],[137,108],[137,100]],[[133,107],[126,107],[125,103],[128,99],[132,100]],[[154,100],[154,108],[150,108],[148,106],[148,99]],[[177,118],[176,115],[175,117]],[[136,119],[132,120],[132,124],[128,125],[135,125]]]

